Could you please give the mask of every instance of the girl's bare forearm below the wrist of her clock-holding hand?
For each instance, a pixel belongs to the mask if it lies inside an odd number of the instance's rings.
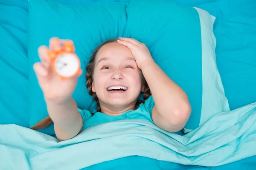
[[[49,116],[54,122],[55,134],[60,141],[71,139],[80,133],[83,120],[73,98],[63,103],[48,100],[46,103]]]

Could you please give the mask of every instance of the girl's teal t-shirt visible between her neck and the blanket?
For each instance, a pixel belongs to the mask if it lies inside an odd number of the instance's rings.
[[[96,112],[94,115],[87,110],[78,109],[79,113],[82,116],[84,125],[82,130],[87,127],[94,125],[99,125],[106,122],[113,122],[117,120],[124,119],[146,119],[154,123],[152,120],[152,109],[154,107],[154,99],[152,95],[145,101],[145,103],[140,104],[137,110],[135,111],[126,111],[118,116],[110,116],[101,112]]]

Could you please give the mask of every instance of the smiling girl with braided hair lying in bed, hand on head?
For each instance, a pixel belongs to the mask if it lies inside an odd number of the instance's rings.
[[[54,37],[49,46],[59,41]],[[54,122],[58,140],[71,139],[81,130],[122,119],[148,119],[169,132],[181,130],[191,113],[186,93],[154,62],[148,48],[137,40],[108,40],[93,52],[87,65],[86,86],[97,101],[97,112],[77,109],[72,94],[78,77],[60,80],[52,72],[47,47],[38,48],[41,62],[33,68],[44,93],[49,117],[32,129]],[[140,93],[144,101],[138,102]],[[152,94],[152,95],[151,95]],[[140,105],[139,105],[140,104]]]

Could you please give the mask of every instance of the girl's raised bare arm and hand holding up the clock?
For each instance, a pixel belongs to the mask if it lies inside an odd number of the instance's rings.
[[[83,125],[76,102],[72,98],[80,75],[69,79],[58,77],[52,70],[49,51],[52,50],[52,46],[59,47],[62,51],[64,49],[60,47],[60,40],[56,37],[49,40],[49,46],[49,49],[45,45],[38,48],[41,62],[36,62],[33,68],[44,94],[47,111],[52,122],[54,122],[56,136],[62,141],[76,136]]]

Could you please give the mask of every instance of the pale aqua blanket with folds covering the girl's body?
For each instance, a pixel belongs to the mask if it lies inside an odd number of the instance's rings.
[[[81,169],[134,155],[218,166],[256,155],[255,146],[256,102],[218,113],[184,136],[138,119],[89,127],[63,142],[26,127],[0,125],[0,169]]]

